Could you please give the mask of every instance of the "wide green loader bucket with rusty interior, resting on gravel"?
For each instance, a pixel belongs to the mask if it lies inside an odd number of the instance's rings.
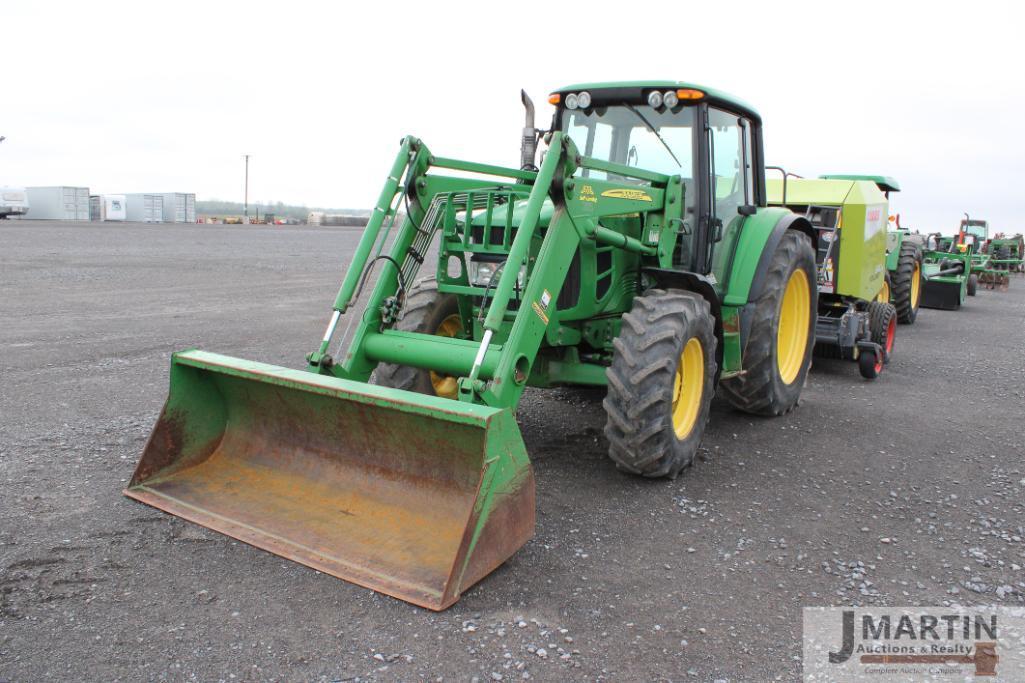
[[[201,351],[125,495],[437,610],[534,532],[509,410]]]

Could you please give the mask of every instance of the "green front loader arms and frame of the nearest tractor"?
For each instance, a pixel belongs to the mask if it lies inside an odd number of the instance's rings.
[[[580,167],[645,185],[624,188],[622,180],[574,177],[574,171]],[[432,168],[474,171],[511,183],[496,185],[488,179],[438,175],[428,172]],[[406,138],[350,264],[321,347],[308,357],[310,369],[367,381],[378,363],[420,367],[460,377],[460,401],[515,408],[556,313],[556,302],[580,242],[592,240],[629,251],[648,258],[651,266],[670,265],[675,233],[664,229],[671,220],[661,216],[666,210],[670,214],[675,211],[674,217],[679,219],[682,191],[679,178],[580,157],[572,140],[561,132],[551,134],[548,154],[536,172],[434,157],[422,143]],[[384,253],[382,245],[389,224],[395,223],[397,209],[403,205],[400,201],[403,193],[413,195],[407,204],[408,215],[398,227],[391,249]],[[667,202],[670,197],[672,201]],[[542,226],[541,210],[545,202],[550,202],[554,211]],[[508,216],[514,208],[521,207],[520,222],[514,229]],[[627,212],[660,216],[650,222],[654,230],[647,231],[649,237],[645,241],[606,229],[599,223],[602,217]],[[501,231],[497,244],[490,244],[489,239],[482,244],[469,243],[469,224],[475,215],[484,216],[482,234]],[[426,249],[438,234],[448,243],[462,242],[465,253],[488,251],[504,256],[498,282],[493,287],[474,287],[468,282],[446,286],[448,291],[480,296],[486,303],[486,308],[482,304],[481,319],[471,339],[391,328],[401,315],[404,291],[420,275],[419,266],[426,260]],[[354,306],[360,283],[375,267],[376,284],[362,313],[355,318],[356,329],[344,353],[335,361],[327,354],[335,326],[340,315]],[[527,272],[525,283],[521,283],[523,269]],[[520,306],[510,311],[514,299]]]

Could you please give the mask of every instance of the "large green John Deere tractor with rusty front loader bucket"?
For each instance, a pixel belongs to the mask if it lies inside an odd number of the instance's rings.
[[[549,103],[536,130],[524,95],[515,168],[403,138],[305,367],[174,354],[126,494],[444,609],[533,534],[525,388],[607,387],[609,455],[646,477],[691,464],[716,390],[793,408],[817,236],[767,206],[757,113],[676,82]]]

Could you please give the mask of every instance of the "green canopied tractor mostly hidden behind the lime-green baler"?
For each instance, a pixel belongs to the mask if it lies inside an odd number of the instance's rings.
[[[835,180],[870,180],[886,197],[900,192],[900,185],[887,175],[829,174],[820,178]],[[890,224],[893,223],[893,228]],[[921,245],[910,231],[901,228],[900,216],[891,215],[887,224],[887,274],[877,300],[890,302],[897,309],[897,322],[911,324],[918,317],[921,303]]]

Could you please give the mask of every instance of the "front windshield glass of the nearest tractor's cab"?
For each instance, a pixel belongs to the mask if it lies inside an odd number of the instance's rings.
[[[583,112],[563,112],[563,132],[587,157],[645,170],[694,177],[693,107],[679,111],[651,107],[596,107]],[[589,177],[604,178],[602,171],[587,171]]]

